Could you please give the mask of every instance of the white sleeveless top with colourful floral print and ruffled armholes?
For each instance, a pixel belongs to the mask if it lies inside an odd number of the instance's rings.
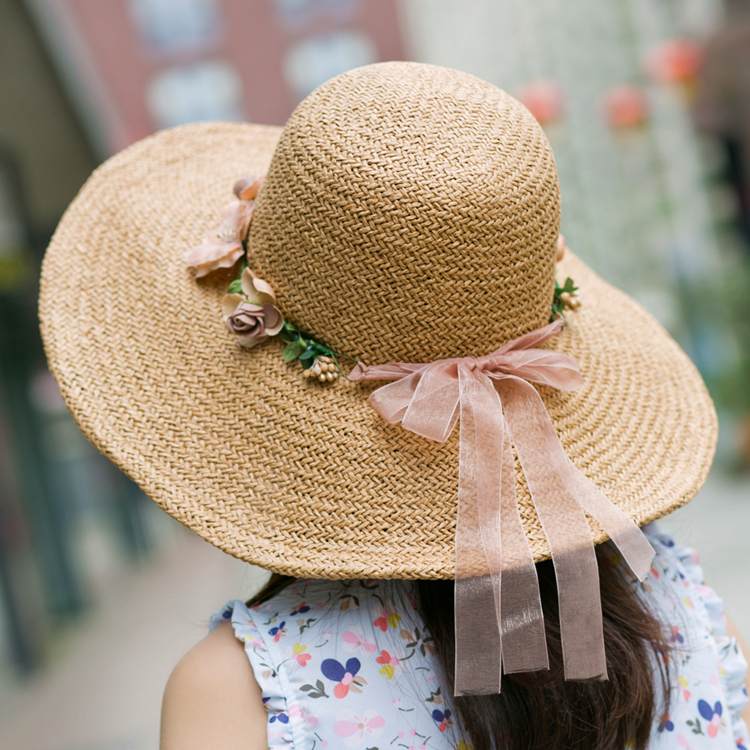
[[[723,603],[695,552],[655,524],[644,532],[656,556],[633,585],[674,647],[669,713],[657,711],[649,747],[747,750],[747,663],[726,634]],[[252,609],[230,602],[211,629],[227,621],[261,687],[271,750],[470,750],[413,582],[299,580]]]

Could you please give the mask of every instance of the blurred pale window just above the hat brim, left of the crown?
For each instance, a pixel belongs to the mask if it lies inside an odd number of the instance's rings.
[[[151,81],[147,101],[161,128],[201,120],[245,119],[239,73],[216,60],[162,71]]]

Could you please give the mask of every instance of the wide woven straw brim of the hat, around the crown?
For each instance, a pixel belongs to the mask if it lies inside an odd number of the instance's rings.
[[[225,552],[298,577],[452,578],[458,431],[431,442],[368,406],[378,384],[305,380],[274,340],[240,348],[221,320],[229,274],[196,281],[180,260],[218,224],[234,181],[266,171],[280,132],[185,126],[92,175],[44,261],[50,367],[86,436]],[[640,305],[570,253],[558,276],[575,280],[582,306],[549,345],[578,360],[585,383],[540,393],[573,463],[636,523],[655,520],[705,480],[713,405]],[[516,483],[540,561],[549,548],[518,464]]]

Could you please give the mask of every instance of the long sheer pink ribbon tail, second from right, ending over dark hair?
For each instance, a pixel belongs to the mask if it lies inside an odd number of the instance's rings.
[[[565,679],[606,679],[599,568],[583,508],[561,474],[565,451],[536,389],[496,381],[557,579]]]

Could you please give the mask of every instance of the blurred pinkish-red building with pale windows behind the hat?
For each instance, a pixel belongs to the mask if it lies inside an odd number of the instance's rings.
[[[283,124],[319,84],[403,57],[392,0],[28,0],[100,151],[198,120]]]

